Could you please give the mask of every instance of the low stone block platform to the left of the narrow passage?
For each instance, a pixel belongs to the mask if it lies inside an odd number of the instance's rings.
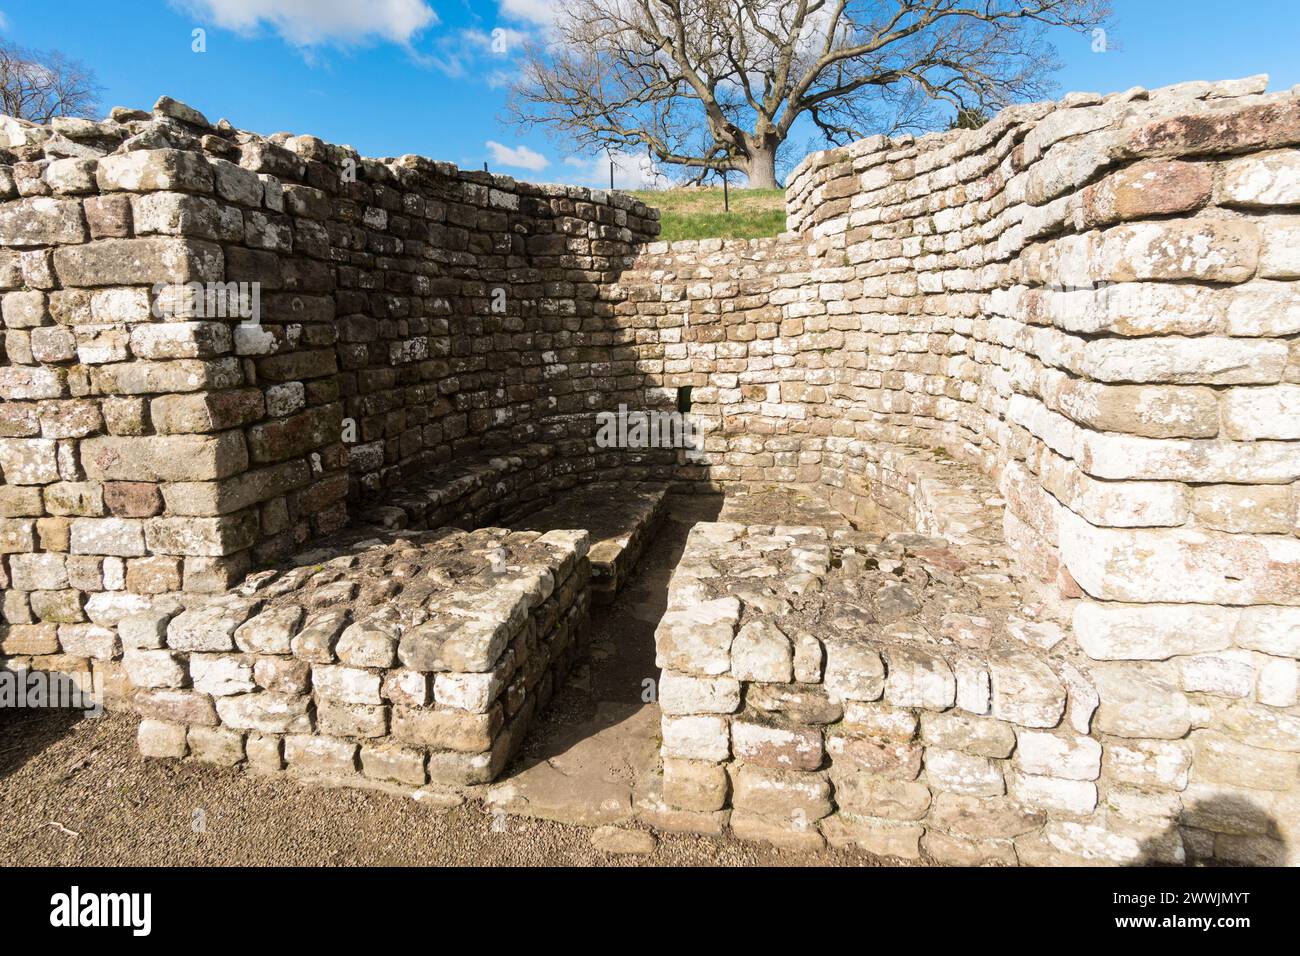
[[[121,622],[150,757],[406,791],[486,783],[581,654],[585,532],[352,535]]]

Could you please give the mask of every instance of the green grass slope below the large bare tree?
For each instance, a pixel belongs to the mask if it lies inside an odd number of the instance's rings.
[[[733,189],[731,212],[720,189],[644,190],[633,195],[662,213],[666,242],[677,239],[758,239],[785,232],[785,190]]]

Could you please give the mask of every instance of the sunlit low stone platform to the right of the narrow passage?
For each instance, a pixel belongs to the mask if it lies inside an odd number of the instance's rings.
[[[1098,730],[1053,614],[944,540],[848,541],[693,528],[655,635],[653,819],[953,864],[1180,860],[1165,817],[1124,808],[1176,797],[1184,745],[1127,739],[1139,701],[1106,675]]]

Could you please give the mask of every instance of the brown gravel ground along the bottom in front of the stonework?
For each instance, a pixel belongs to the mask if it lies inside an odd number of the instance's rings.
[[[0,865],[879,865],[861,853],[672,834],[649,856],[611,856],[582,827],[510,817],[497,832],[476,803],[439,812],[384,793],[144,761],[134,735],[125,714],[0,711]]]

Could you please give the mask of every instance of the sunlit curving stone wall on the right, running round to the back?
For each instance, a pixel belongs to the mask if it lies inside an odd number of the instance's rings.
[[[945,480],[907,447],[992,477],[1024,584],[1072,617],[1089,734],[1117,767],[1145,754],[1144,805],[1190,853],[1239,860],[1294,855],[1300,822],[1300,94],[1264,88],[1076,94],[818,153],[789,234],[651,246],[621,278],[673,278],[686,341],[724,326],[688,350],[716,399],[701,473],[797,463],[896,527]],[[1123,857],[1087,843],[1060,849]]]

